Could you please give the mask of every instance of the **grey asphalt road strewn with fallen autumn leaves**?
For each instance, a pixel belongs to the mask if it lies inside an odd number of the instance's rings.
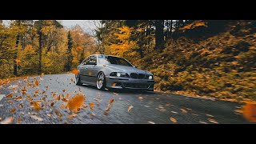
[[[13,123],[20,119],[21,123],[34,124],[243,124],[247,122],[241,114],[235,110],[241,108],[238,102],[223,102],[215,99],[193,98],[176,94],[165,94],[159,92],[142,93],[139,91],[113,91],[97,90],[93,86],[76,86],[71,82],[74,74],[52,74],[40,77],[28,78],[28,82],[19,79],[7,86],[0,87],[0,122],[8,117],[13,117]],[[28,87],[27,83],[35,82],[38,79],[39,85]],[[22,88],[26,86],[27,94],[22,95]],[[48,90],[46,90],[48,86]],[[15,87],[15,90],[13,90]],[[70,97],[78,93],[86,95],[85,109],[74,118],[68,118],[70,110],[60,108],[65,102],[58,101],[50,106],[51,95],[70,94]],[[34,92],[39,90],[36,97]],[[42,94],[42,91],[46,93]],[[62,90],[65,90],[63,92]],[[13,98],[6,98],[6,95],[14,93]],[[2,94],[2,95],[1,95]],[[39,112],[30,106],[26,96],[34,100],[42,100],[47,95],[46,102]],[[18,96],[22,99],[15,100]],[[110,99],[114,98],[112,107],[106,112]],[[94,102],[94,110],[90,110],[89,103]],[[19,106],[24,105],[23,107]],[[12,113],[10,110],[15,111]],[[130,112],[128,109],[130,108]],[[58,114],[56,114],[58,110]],[[60,116],[61,114],[62,116]]]

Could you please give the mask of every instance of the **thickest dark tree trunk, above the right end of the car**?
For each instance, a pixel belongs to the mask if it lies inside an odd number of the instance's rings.
[[[156,20],[155,21],[155,50],[163,49],[163,34],[164,20]]]

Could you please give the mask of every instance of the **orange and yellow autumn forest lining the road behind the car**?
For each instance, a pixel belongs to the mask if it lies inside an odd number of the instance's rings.
[[[0,78],[61,74],[90,54],[154,73],[155,89],[255,100],[256,21],[100,20],[93,34],[57,20],[0,21]]]

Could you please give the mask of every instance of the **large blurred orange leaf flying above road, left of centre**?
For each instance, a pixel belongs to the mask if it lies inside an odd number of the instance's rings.
[[[70,111],[77,110],[82,106],[83,102],[85,102],[84,96],[82,94],[78,94],[69,99],[66,107],[68,107]]]

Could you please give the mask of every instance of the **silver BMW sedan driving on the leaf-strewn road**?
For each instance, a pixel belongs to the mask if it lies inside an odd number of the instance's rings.
[[[146,70],[140,70],[126,61],[104,54],[93,54],[78,65],[75,74],[76,85],[96,86],[98,90],[138,89],[154,91],[154,76]]]

